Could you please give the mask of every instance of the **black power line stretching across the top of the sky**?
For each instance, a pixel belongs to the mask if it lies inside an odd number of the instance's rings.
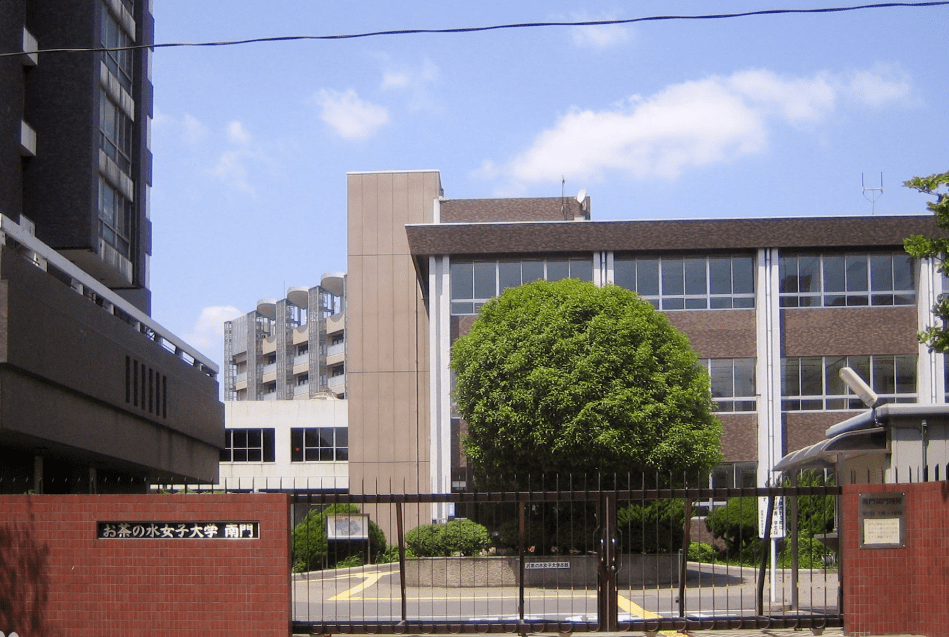
[[[264,42],[295,42],[301,40],[355,40],[358,38],[372,38],[385,35],[417,35],[417,34],[454,34],[479,33],[483,31],[501,31],[506,29],[534,29],[540,27],[586,27],[610,26],[619,24],[634,24],[637,22],[664,22],[669,20],[722,20],[727,18],[747,18],[750,16],[771,16],[806,13],[843,13],[846,11],[862,11],[866,9],[892,9],[898,7],[923,8],[949,5],[949,0],[940,2],[883,2],[879,4],[862,4],[851,7],[824,7],[818,9],[762,9],[759,11],[743,11],[740,13],[714,13],[704,15],[659,15],[642,18],[625,18],[621,20],[585,20],[578,22],[521,22],[515,24],[497,24],[484,27],[456,27],[450,29],[394,29],[390,31],[368,31],[365,33],[349,33],[338,35],[282,35],[266,38],[248,38],[245,40],[224,40],[219,42],[163,42],[156,44],[137,44],[127,47],[92,47],[67,49],[39,49],[36,53],[78,53],[100,51],[129,51],[136,49],[170,49],[181,47],[211,47],[236,46],[240,44],[258,44]],[[22,52],[0,53],[0,57],[22,55]]]

